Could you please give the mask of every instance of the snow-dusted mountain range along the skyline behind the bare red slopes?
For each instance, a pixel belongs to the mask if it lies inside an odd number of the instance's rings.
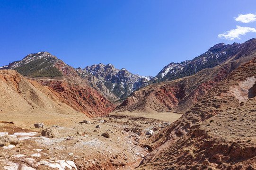
[[[216,44],[192,60],[169,63],[155,77],[133,75],[125,68],[117,69],[111,64],[102,63],[83,69],[72,68],[48,52],[28,54],[24,59],[0,69],[15,69],[21,75],[29,77],[56,77],[66,74],[64,70],[69,68],[72,70],[72,75],[68,75],[69,79],[75,80],[79,76],[84,84],[103,93],[112,102],[122,102],[134,91],[148,85],[192,76],[205,68],[214,68],[237,54],[242,46],[243,44],[239,43]],[[58,67],[58,63],[62,63],[63,67]]]

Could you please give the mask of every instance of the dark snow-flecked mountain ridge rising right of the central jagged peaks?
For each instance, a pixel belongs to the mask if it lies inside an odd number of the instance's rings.
[[[219,43],[192,60],[186,60],[179,63],[169,63],[158,73],[153,81],[144,84],[144,86],[163,81],[175,80],[185,76],[192,76],[205,68],[218,66],[223,61],[229,59],[240,45],[241,44],[236,42],[231,45]]]

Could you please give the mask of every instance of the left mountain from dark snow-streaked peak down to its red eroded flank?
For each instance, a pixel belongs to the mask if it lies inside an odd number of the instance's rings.
[[[55,77],[56,72],[53,71],[52,75],[49,68],[57,70],[57,73],[62,76]],[[48,52],[28,54],[21,61],[10,63],[4,69],[16,69],[24,76],[29,76],[30,79],[32,77],[32,80],[41,85],[47,85],[62,102],[88,117],[106,115],[115,109],[115,105],[102,93],[93,89],[86,79],[82,79],[77,74],[74,68]],[[52,78],[47,78],[46,75]]]

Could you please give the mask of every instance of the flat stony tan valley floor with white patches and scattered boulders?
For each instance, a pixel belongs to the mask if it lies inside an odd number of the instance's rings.
[[[85,124],[81,123],[85,119],[82,115],[62,119],[39,116],[34,120],[23,116],[18,120],[17,115],[0,114],[6,115],[1,119],[0,136],[8,133],[19,139],[17,145],[0,147],[3,170],[132,170],[148,154],[143,141],[181,116],[163,113],[162,118],[171,115],[163,121],[161,117],[148,119],[156,117],[150,114],[109,115],[87,118],[90,124]],[[35,122],[43,122],[44,129],[53,126],[57,137],[42,137],[42,129],[35,128]],[[102,136],[104,132],[109,138]]]

